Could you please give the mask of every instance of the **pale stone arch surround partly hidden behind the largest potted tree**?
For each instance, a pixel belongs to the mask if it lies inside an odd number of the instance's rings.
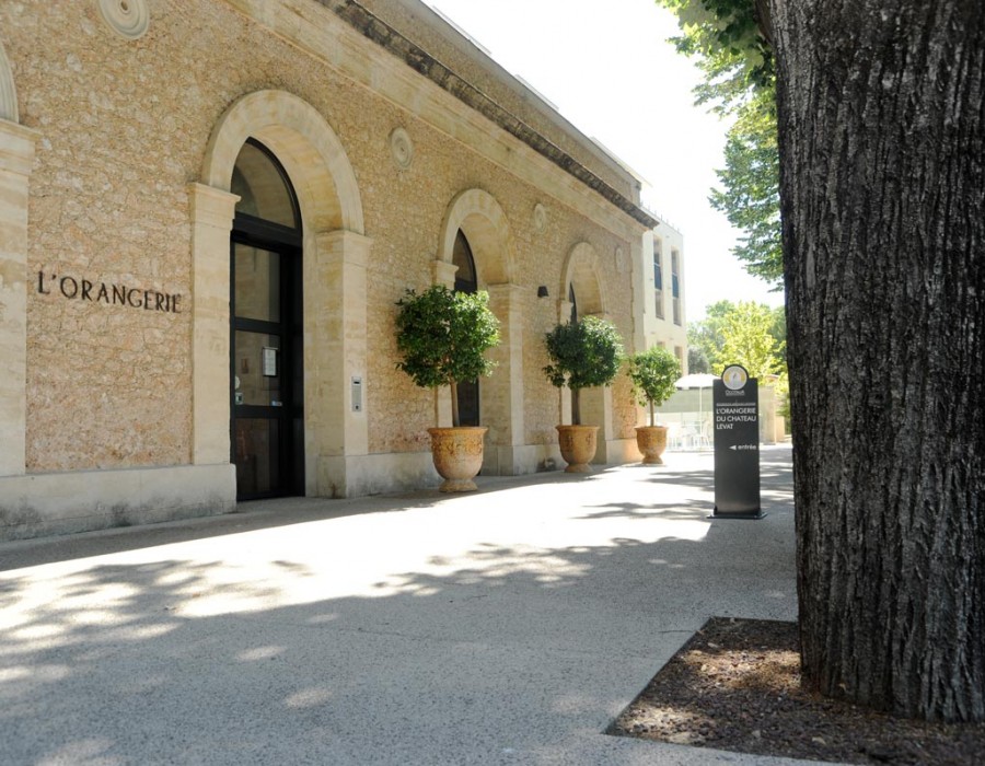
[[[444,213],[438,245],[436,281],[454,281],[452,254],[459,230],[465,234],[478,287],[489,293],[489,307],[499,320],[500,344],[489,352],[493,375],[479,385],[479,420],[488,427],[483,472],[512,475],[523,468],[523,349],[521,291],[514,283],[515,258],[509,222],[493,195],[472,188],[457,194]],[[451,423],[451,397],[439,393],[439,418]]]

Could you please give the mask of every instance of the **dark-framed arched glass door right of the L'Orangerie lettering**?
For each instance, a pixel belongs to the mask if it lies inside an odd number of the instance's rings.
[[[230,439],[236,499],[304,494],[301,217],[287,173],[243,144],[230,247]]]

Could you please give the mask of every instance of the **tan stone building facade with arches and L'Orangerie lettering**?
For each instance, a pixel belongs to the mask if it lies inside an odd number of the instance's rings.
[[[416,0],[0,3],[0,538],[434,483],[450,394],[393,320],[461,236],[501,323],[484,472],[542,469],[543,336],[573,303],[652,343],[657,223]],[[636,459],[625,376],[583,398],[596,462]]]

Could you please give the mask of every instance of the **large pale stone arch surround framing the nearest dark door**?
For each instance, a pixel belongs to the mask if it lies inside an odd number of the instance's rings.
[[[371,241],[356,174],[341,141],[310,104],[283,91],[250,93],[209,138],[201,183],[192,185],[194,263],[194,461],[229,463],[229,247],[237,197],[230,193],[247,138],[281,163],[303,229],[305,494],[364,491],[368,425],[349,381],[366,375],[366,268]],[[232,466],[231,466],[232,467]]]

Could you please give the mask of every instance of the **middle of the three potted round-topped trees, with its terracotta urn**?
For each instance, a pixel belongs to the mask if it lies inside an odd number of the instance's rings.
[[[619,371],[623,344],[611,322],[586,316],[578,322],[557,325],[545,339],[551,363],[544,374],[557,388],[571,390],[571,425],[557,427],[561,457],[568,473],[588,473],[595,455],[598,426],[581,423],[580,392],[582,388],[612,383]]]

